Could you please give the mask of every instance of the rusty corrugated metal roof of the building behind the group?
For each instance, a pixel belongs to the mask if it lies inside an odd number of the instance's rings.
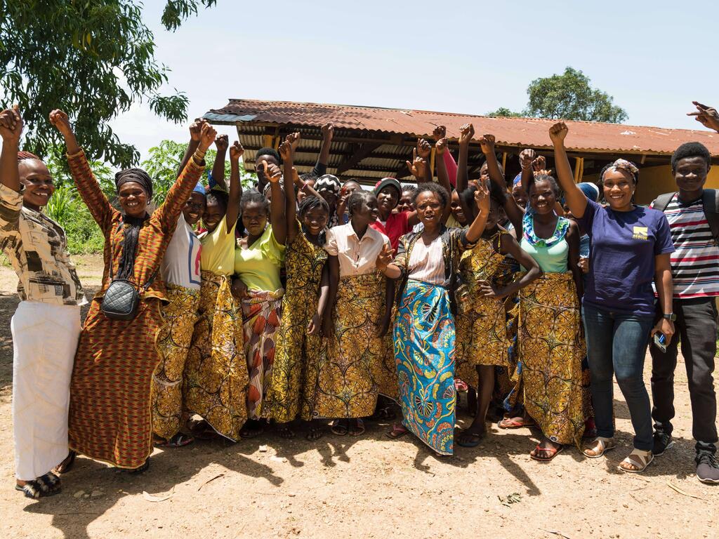
[[[429,137],[434,127],[444,125],[447,136],[452,138],[458,136],[459,126],[472,122],[477,133],[475,137],[492,133],[500,145],[538,149],[551,146],[548,130],[554,123],[554,120],[549,119],[495,118],[369,106],[249,99],[232,99],[224,108],[213,109],[204,117],[216,123],[227,124],[249,122],[255,125],[321,126],[331,122],[340,129],[413,137]],[[719,134],[714,132],[587,121],[567,121],[567,125],[567,149],[574,152],[670,155],[679,144],[698,141],[705,144],[713,156],[719,156]]]

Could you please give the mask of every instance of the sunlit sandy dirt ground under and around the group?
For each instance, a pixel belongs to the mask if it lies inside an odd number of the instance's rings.
[[[76,257],[94,292],[99,257]],[[0,522],[6,538],[717,538],[719,487],[697,482],[683,363],[676,377],[676,445],[643,475],[620,474],[631,423],[618,387],[618,449],[585,459],[568,448],[549,464],[529,459],[537,432],[492,426],[474,449],[436,459],[406,436],[368,423],[359,438],[317,442],[277,433],[237,444],[156,449],[130,476],[78,458],[56,497],[15,492],[12,339],[17,280],[0,267]],[[681,360],[680,360],[681,361]],[[649,370],[646,372],[649,379]],[[469,416],[464,405],[460,424]],[[675,488],[672,488],[675,487]],[[680,492],[678,492],[680,491]]]

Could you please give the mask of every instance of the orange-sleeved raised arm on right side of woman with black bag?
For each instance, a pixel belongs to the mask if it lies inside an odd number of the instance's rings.
[[[152,214],[152,219],[160,223],[165,233],[172,233],[175,230],[180,213],[182,213],[192,190],[205,170],[205,152],[212,144],[216,134],[210,124],[203,124],[200,132],[200,142],[195,153],[185,165],[180,178],[168,190],[165,202]]]

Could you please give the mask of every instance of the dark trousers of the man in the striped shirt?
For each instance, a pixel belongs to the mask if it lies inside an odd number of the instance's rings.
[[[714,298],[674,299],[677,321],[667,351],[654,344],[651,349],[651,416],[657,431],[672,434],[674,418],[674,369],[677,367],[677,345],[682,341],[682,356],[687,367],[689,395],[692,401],[692,436],[697,451],[715,452],[717,441],[717,399],[714,392],[714,356],[716,354],[717,310]],[[657,306],[656,319],[661,317]]]

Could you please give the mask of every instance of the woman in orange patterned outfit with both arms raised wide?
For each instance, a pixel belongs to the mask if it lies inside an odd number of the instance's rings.
[[[152,180],[143,170],[116,175],[117,211],[100,189],[63,111],[52,111],[68,148],[68,163],[83,201],[105,236],[105,270],[75,354],[70,382],[70,448],[119,468],[143,471],[152,453],[152,374],[160,364],[155,340],[162,327],[160,305],[167,302],[160,264],[180,213],[203,172],[215,130],[205,125],[195,155],[150,216]],[[101,310],[114,279],[139,290],[132,320],[113,320]]]

